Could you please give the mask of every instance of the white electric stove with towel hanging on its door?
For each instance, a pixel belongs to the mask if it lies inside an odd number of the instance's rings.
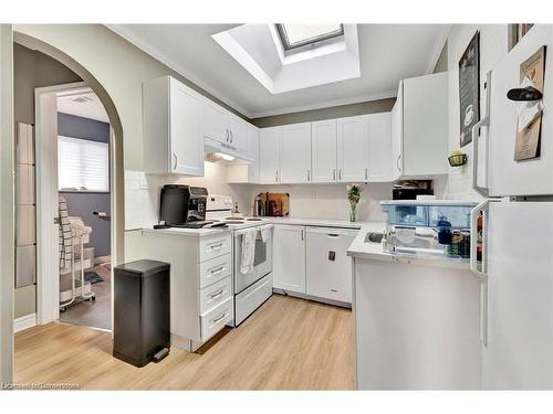
[[[206,205],[206,221],[225,222],[232,231],[233,257],[233,293],[234,319],[233,326],[239,326],[255,309],[258,309],[272,295],[272,267],[273,267],[273,225],[262,217],[243,217],[232,214],[232,198],[227,195],[210,194]],[[253,270],[241,273],[242,236],[246,232],[267,229],[269,234],[265,241],[261,232],[255,238]]]

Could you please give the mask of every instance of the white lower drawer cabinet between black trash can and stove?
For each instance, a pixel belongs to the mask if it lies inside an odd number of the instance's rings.
[[[231,322],[230,232],[198,236],[175,230],[143,230],[144,258],[170,264],[171,344],[196,351]]]

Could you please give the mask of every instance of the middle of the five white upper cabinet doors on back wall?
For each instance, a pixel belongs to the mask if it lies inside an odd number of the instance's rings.
[[[311,124],[313,182],[336,181],[336,119]]]

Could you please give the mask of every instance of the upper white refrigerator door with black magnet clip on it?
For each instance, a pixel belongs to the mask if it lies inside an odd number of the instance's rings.
[[[517,104],[507,98],[507,92],[519,87],[521,63],[543,45],[546,45],[546,53],[541,157],[514,161],[518,114]],[[493,68],[490,93],[490,195],[553,194],[553,25],[533,26],[507,54]]]

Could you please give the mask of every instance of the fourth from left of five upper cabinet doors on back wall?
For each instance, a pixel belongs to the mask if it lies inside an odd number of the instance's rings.
[[[367,116],[338,119],[337,128],[337,180],[365,181],[368,174]]]

